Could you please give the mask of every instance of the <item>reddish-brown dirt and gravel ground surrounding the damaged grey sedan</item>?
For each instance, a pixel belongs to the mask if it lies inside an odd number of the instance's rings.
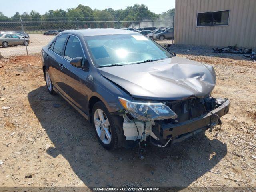
[[[220,126],[171,148],[145,143],[144,160],[137,149],[102,148],[92,124],[48,94],[40,55],[0,60],[0,186],[255,187],[256,62],[205,47],[171,49],[214,66],[212,96],[229,98],[230,112],[217,136]]]

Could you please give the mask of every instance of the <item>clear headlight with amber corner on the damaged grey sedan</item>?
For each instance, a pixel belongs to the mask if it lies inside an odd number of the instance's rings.
[[[136,119],[152,121],[160,119],[176,119],[178,116],[161,102],[136,102],[118,97],[122,106]]]

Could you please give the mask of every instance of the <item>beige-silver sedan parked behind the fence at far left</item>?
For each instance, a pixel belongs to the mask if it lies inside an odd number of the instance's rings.
[[[11,45],[17,46],[17,45],[28,45],[29,39],[26,38],[24,40],[24,37],[18,36],[13,33],[6,33],[6,34],[0,34],[0,45],[3,47],[8,47]]]

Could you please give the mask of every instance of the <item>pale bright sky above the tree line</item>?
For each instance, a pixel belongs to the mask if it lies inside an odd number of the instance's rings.
[[[0,12],[5,16],[13,16],[16,12],[22,14],[23,12],[30,13],[31,10],[36,10],[40,14],[44,14],[48,10],[56,10],[67,8],[75,8],[79,4],[89,6],[92,9],[106,9],[112,8],[125,9],[127,6],[134,4],[145,4],[150,11],[159,14],[169,9],[175,8],[175,0],[11,0],[12,3],[2,3]]]

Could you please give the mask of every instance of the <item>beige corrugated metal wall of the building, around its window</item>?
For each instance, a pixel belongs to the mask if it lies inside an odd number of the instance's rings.
[[[228,26],[196,26],[197,13],[230,10]],[[174,43],[256,47],[256,0],[176,0]]]

